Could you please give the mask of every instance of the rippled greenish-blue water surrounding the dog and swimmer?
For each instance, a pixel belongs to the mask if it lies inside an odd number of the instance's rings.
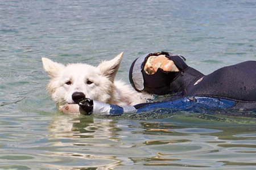
[[[256,169],[255,118],[58,113],[41,57],[182,54],[208,74],[255,60],[256,2],[0,1],[0,169]]]

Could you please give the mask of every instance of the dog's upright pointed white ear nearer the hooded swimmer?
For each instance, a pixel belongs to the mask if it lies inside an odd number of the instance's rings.
[[[100,69],[101,73],[105,76],[108,76],[112,82],[114,82],[115,75],[117,74],[117,71],[119,69],[119,65],[122,61],[123,52],[118,54],[117,57],[109,60],[109,61],[103,61],[98,65],[98,69]]]

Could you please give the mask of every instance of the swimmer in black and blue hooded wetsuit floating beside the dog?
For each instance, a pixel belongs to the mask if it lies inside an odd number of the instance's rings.
[[[174,70],[163,67],[145,69],[148,59],[166,57],[173,61]],[[189,67],[180,55],[160,52],[135,59],[129,71],[131,85],[137,91],[150,94],[172,94],[164,101],[129,106],[99,103],[90,99],[80,100],[87,113],[122,114],[141,113],[155,109],[170,111],[196,111],[205,109],[256,109],[256,61],[246,61],[222,67],[204,75]],[[152,73],[150,73],[152,72]],[[106,109],[108,108],[108,109]]]

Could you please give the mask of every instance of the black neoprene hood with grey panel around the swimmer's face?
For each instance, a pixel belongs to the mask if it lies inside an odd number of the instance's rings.
[[[147,74],[143,69],[147,59],[151,56],[160,55],[165,55],[168,59],[174,61],[179,71],[163,71],[159,68],[155,74]],[[129,79],[131,86],[139,92],[146,91],[156,95],[170,94],[174,92],[174,88],[170,88],[170,84],[187,68],[188,65],[185,63],[183,56],[168,52],[150,53],[135,59],[130,67]]]

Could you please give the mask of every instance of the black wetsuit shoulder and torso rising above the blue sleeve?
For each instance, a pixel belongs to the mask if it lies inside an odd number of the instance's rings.
[[[256,101],[256,61],[222,67],[201,82],[189,84],[187,95]]]

